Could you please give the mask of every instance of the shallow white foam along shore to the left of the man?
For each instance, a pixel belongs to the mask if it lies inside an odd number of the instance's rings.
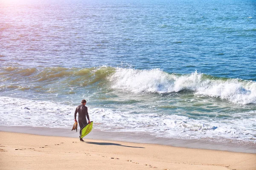
[[[48,101],[0,96],[0,125],[68,127],[71,107]]]

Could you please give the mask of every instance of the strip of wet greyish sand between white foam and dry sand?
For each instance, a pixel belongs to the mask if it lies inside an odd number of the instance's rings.
[[[28,127],[28,126],[0,126],[0,131],[11,133],[25,133],[40,136],[59,136],[77,138],[79,141],[79,129],[71,131],[67,128],[50,128],[50,127]],[[255,144],[233,144],[221,142],[209,142],[197,139],[169,139],[151,136],[141,133],[125,132],[105,132],[94,129],[84,139],[105,140],[116,142],[132,142],[138,144],[159,144],[172,147],[183,147],[204,150],[219,150],[236,153],[253,153],[256,154]]]

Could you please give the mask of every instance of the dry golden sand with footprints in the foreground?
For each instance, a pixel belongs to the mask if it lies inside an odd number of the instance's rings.
[[[0,132],[1,170],[256,170],[256,154]]]

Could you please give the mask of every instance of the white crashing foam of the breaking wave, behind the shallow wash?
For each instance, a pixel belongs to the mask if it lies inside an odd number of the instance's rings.
[[[116,72],[109,77],[109,80],[112,88],[133,93],[169,93],[189,90],[199,96],[218,97],[243,105],[256,104],[256,82],[203,76],[197,71],[192,74],[175,75],[160,69],[116,68]]]

